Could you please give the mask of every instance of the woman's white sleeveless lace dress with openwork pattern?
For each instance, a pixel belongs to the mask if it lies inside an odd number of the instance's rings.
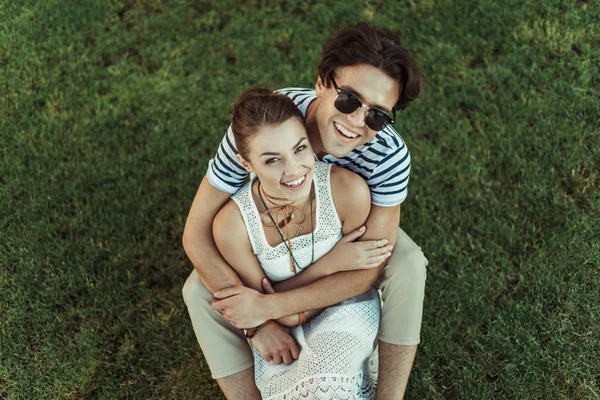
[[[342,225],[331,197],[330,170],[328,164],[315,163],[315,261],[342,237]],[[252,182],[247,183],[233,199],[241,210],[254,254],[271,281],[288,279],[293,276],[288,249],[285,243],[275,247],[267,243],[251,185]],[[297,262],[306,268],[312,257],[312,235],[293,238],[292,248]],[[256,385],[262,398],[374,398],[377,375],[374,349],[379,314],[379,296],[371,289],[328,307],[311,321],[292,328],[300,357],[291,365],[266,362],[254,349]]]

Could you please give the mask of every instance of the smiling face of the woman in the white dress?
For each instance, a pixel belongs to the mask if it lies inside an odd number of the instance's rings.
[[[248,159],[238,158],[256,173],[269,196],[303,202],[309,195],[315,158],[306,129],[296,118],[260,128],[248,143]]]

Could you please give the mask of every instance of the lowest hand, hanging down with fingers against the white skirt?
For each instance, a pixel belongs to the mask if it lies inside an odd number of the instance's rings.
[[[252,339],[252,345],[260,353],[265,361],[273,361],[274,364],[290,365],[298,359],[300,349],[288,330],[277,322],[270,322]]]

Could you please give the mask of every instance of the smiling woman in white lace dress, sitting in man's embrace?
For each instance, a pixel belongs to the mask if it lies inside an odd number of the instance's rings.
[[[316,261],[367,219],[368,186],[348,170],[315,163],[302,114],[287,96],[268,89],[242,93],[233,106],[232,131],[238,160],[256,179],[215,218],[219,251],[244,284],[258,291],[265,275],[280,282],[278,290],[321,278],[325,268]],[[390,251],[375,251],[369,263],[378,265]],[[275,365],[254,349],[264,399],[373,398],[367,367],[379,326],[375,290],[267,323],[292,327],[301,352],[291,365]]]

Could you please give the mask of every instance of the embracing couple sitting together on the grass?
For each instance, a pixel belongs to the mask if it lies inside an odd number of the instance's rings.
[[[398,228],[410,155],[392,124],[418,95],[398,36],[358,24],[327,40],[314,90],[233,104],[183,237],[183,296],[228,399],[403,397],[427,260]]]

